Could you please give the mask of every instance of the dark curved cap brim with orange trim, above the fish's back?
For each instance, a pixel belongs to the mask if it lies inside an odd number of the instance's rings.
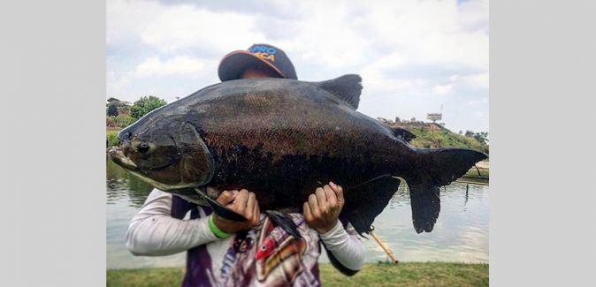
[[[248,51],[240,50],[225,55],[218,67],[218,76],[221,81],[230,79],[240,79],[241,72],[248,67],[256,64],[265,64],[274,72],[277,72],[281,77],[286,78],[283,72],[279,71],[274,65],[265,61],[260,57],[256,57]]]

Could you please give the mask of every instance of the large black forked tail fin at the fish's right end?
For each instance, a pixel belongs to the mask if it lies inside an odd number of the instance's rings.
[[[416,161],[414,173],[404,177],[409,187],[412,222],[417,233],[431,232],[439,218],[439,187],[465,175],[476,162],[487,156],[463,148],[419,149],[423,158]]]

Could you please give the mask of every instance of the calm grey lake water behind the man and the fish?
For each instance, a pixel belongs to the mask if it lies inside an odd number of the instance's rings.
[[[137,257],[126,250],[128,222],[153,188],[107,162],[106,268],[184,267],[186,253]],[[412,225],[409,193],[404,185],[378,215],[374,233],[399,261],[488,263],[488,185],[453,183],[441,188],[441,211],[430,233],[417,234]],[[363,238],[366,261],[390,261],[371,236]],[[328,262],[325,252],[319,259]]]

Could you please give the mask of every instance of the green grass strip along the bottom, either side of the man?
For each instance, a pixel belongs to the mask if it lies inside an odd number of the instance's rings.
[[[343,276],[329,263],[319,265],[324,286],[488,286],[488,264],[444,262],[370,263]],[[184,268],[107,270],[107,286],[180,286]]]

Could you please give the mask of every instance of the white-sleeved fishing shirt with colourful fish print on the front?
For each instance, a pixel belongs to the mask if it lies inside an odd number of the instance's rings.
[[[172,217],[173,200],[171,193],[153,190],[129,224],[126,247],[142,256],[188,251],[187,285],[317,285],[319,242],[328,250],[333,266],[345,274],[355,274],[363,266],[364,245],[350,223],[344,228],[338,221],[332,230],[318,234],[302,215],[290,214],[301,239],[262,214],[260,226],[221,239],[210,230],[210,208],[198,207],[191,219],[179,219]]]

